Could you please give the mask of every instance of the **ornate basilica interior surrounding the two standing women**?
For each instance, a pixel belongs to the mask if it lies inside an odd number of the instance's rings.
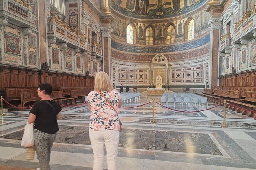
[[[43,82],[51,169],[93,170],[100,71],[124,87],[120,170],[256,169],[256,0],[0,0],[0,170],[39,166],[21,139]]]

